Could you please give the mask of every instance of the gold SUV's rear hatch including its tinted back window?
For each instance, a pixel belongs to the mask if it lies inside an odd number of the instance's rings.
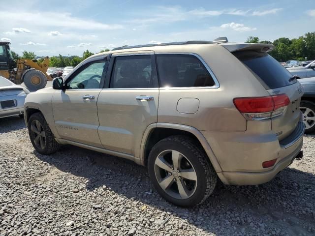
[[[259,50],[237,51],[233,55],[247,66],[270,95],[286,94],[290,100],[282,115],[272,118],[272,131],[279,141],[289,136],[300,120],[301,84],[274,58]]]

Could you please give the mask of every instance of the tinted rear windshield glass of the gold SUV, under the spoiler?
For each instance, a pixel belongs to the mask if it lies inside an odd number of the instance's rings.
[[[233,55],[256,75],[266,89],[276,89],[296,83],[295,80],[289,82],[292,77],[290,72],[267,53],[243,51],[235,52]]]

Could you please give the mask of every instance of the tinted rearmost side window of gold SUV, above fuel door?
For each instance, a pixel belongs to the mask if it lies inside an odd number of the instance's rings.
[[[203,63],[193,55],[157,55],[160,87],[207,87],[215,82]]]

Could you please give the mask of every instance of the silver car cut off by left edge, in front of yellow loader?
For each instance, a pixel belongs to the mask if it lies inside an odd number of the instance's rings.
[[[0,118],[23,117],[24,101],[30,91],[0,76]]]

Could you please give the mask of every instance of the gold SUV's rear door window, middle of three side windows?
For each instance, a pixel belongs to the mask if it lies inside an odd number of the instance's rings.
[[[119,56],[115,58],[110,88],[151,88],[151,55]]]

